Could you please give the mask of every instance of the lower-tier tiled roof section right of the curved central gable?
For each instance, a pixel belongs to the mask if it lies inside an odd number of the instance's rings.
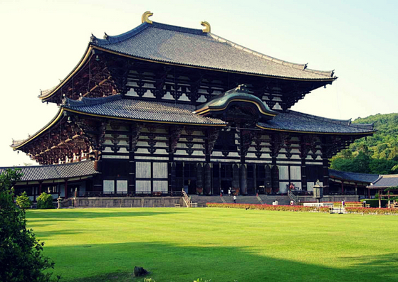
[[[350,119],[327,119],[311,114],[289,111],[281,112],[270,121],[260,122],[262,129],[323,134],[372,134],[373,124],[352,124]]]

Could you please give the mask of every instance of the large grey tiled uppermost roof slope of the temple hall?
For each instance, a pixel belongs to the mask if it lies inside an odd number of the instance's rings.
[[[333,80],[332,71],[310,70],[257,53],[201,29],[142,23],[119,36],[92,36],[91,45],[165,63],[303,80]]]

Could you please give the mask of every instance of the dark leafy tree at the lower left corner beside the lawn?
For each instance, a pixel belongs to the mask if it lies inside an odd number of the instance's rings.
[[[11,169],[0,175],[0,281],[52,281],[52,273],[43,271],[53,269],[54,263],[41,254],[44,243],[26,229],[25,210],[14,203],[12,187],[21,175]]]

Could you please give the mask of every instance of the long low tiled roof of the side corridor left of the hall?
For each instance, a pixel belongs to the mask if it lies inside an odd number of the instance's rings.
[[[94,161],[49,166],[14,166],[9,168],[21,168],[21,173],[23,173],[21,181],[77,178],[98,173],[94,169]],[[3,173],[6,169],[0,168],[0,173]]]

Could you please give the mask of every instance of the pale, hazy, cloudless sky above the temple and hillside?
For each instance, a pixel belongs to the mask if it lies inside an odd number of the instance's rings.
[[[259,53],[338,79],[292,108],[334,119],[398,112],[398,1],[0,0],[0,166],[37,164],[9,146],[45,126],[58,108],[40,90],[77,65],[90,34],[117,35],[152,21],[211,32]]]

